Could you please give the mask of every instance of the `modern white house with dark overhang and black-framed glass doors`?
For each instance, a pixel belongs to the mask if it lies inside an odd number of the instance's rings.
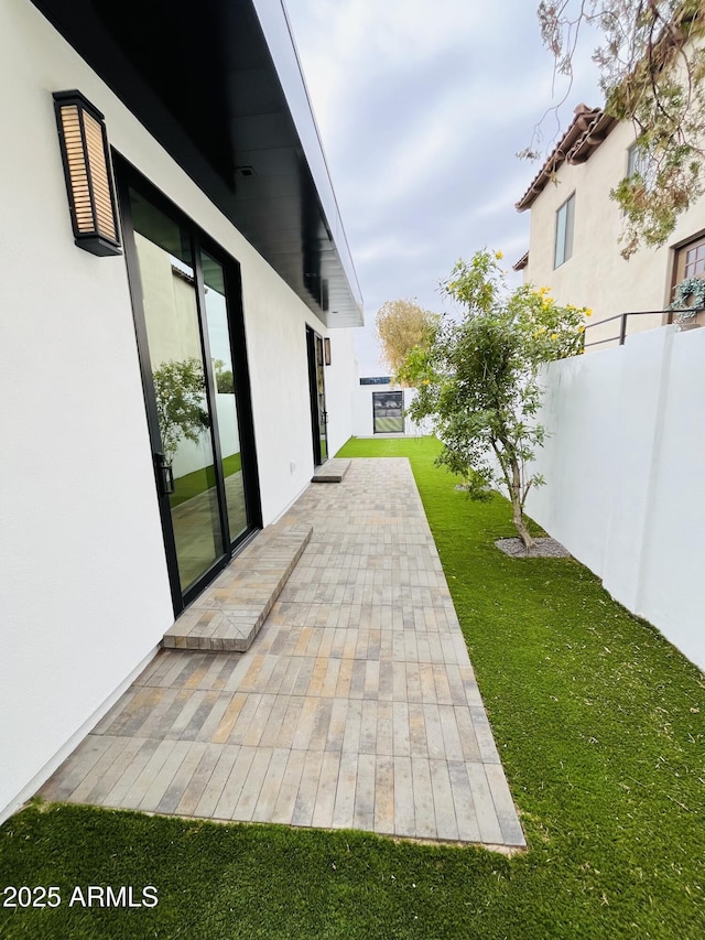
[[[281,0],[2,0],[0,819],[352,433]]]

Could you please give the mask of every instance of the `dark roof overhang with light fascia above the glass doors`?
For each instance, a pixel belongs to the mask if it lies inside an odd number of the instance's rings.
[[[33,2],[323,323],[362,325],[281,0]]]

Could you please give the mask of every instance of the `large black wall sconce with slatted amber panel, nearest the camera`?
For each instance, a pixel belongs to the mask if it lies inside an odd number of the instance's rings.
[[[56,91],[54,108],[76,245],[121,255],[104,116],[76,90]]]

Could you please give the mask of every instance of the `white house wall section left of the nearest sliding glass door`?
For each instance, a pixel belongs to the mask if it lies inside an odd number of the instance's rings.
[[[99,88],[22,0],[0,76],[2,811],[173,615],[124,259],[74,246],[56,137],[51,93]]]

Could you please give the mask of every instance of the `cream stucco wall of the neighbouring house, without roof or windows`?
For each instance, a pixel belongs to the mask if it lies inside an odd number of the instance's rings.
[[[705,198],[684,213],[673,235],[661,248],[642,248],[629,261],[620,256],[621,210],[609,198],[627,173],[631,125],[618,125],[582,164],[564,163],[555,183],[536,197],[531,212],[529,263],[524,281],[550,287],[562,303],[594,311],[590,323],[628,311],[663,310],[671,302],[672,246],[705,228]],[[573,256],[553,268],[555,216],[575,192]],[[652,328],[660,317],[630,317],[628,333]],[[588,342],[619,333],[619,321],[588,331]]]

